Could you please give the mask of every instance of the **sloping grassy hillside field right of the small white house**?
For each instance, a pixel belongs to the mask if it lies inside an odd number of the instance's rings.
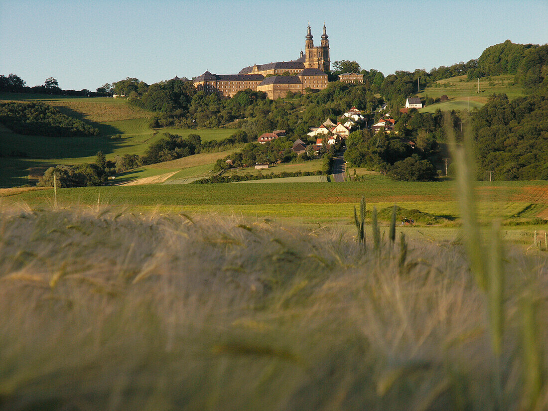
[[[481,107],[493,93],[506,94],[510,99],[525,95],[520,85],[514,84],[512,75],[490,76],[479,79],[479,93],[477,79],[467,80],[466,76],[457,76],[436,82],[438,87],[429,85],[418,95],[420,97],[439,98],[447,95],[449,101],[423,107],[420,111],[433,112],[440,110],[464,110]]]

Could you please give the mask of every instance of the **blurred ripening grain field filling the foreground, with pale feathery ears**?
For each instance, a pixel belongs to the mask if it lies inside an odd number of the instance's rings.
[[[548,406],[543,378],[526,372],[539,353],[548,371],[544,237],[505,246],[495,357],[458,240],[396,233],[364,251],[343,227],[267,219],[0,216],[0,410]],[[530,381],[543,383],[535,402]]]

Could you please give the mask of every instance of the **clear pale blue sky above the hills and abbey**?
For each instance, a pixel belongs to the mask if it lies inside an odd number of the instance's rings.
[[[478,58],[489,45],[548,42],[548,1],[0,0],[0,74],[95,90],[298,58],[326,22],[331,61],[385,75]]]

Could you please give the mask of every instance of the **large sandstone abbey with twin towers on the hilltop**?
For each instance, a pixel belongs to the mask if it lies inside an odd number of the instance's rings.
[[[310,25],[305,41],[305,52],[298,59],[244,67],[238,74],[216,75],[209,71],[194,79],[198,90],[232,97],[245,89],[265,92],[270,99],[285,97],[288,92],[304,93],[307,89],[321,90],[327,87],[330,71],[329,40],[326,26],[320,45],[315,47]]]

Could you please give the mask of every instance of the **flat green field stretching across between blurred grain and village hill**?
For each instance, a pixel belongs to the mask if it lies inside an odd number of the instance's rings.
[[[156,170],[158,174],[168,169]],[[151,175],[152,174],[149,170]],[[191,175],[175,174],[174,179]],[[317,176],[315,176],[317,178]],[[269,180],[270,182],[270,180]],[[364,196],[372,209],[392,204],[407,209],[441,216],[445,225],[459,217],[454,199],[455,186],[444,182],[399,182],[383,176],[372,176],[362,182],[269,182],[255,184],[190,184],[82,187],[58,190],[60,204],[92,205],[100,203],[163,212],[256,215],[290,218],[302,222],[348,221],[353,207]],[[500,218],[507,224],[548,218],[548,182],[512,181],[481,182],[477,187],[482,220]],[[30,191],[5,197],[9,203],[53,203],[53,190]],[[530,224],[530,223],[529,223]]]

